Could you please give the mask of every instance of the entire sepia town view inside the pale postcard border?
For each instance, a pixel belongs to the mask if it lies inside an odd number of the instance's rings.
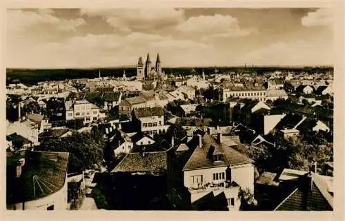
[[[7,210],[334,210],[333,9],[8,8],[6,25]]]

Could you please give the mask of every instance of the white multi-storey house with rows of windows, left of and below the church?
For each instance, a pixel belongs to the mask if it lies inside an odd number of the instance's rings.
[[[83,123],[91,123],[101,118],[100,108],[86,101],[66,101],[66,120],[83,119]]]

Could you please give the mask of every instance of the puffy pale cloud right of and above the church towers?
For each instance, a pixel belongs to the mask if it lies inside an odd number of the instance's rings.
[[[239,27],[237,18],[221,14],[190,17],[184,23],[179,23],[176,29],[189,34],[198,34],[202,41],[210,38],[246,36],[256,31],[254,28],[243,30]]]

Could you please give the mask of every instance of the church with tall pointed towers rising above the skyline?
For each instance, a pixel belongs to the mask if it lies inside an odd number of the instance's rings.
[[[155,65],[152,64],[150,60],[150,54],[146,57],[146,62],[144,65],[142,57],[139,57],[137,64],[137,80],[156,80],[164,76],[164,72],[161,71],[161,59],[159,54],[157,54],[157,59]]]

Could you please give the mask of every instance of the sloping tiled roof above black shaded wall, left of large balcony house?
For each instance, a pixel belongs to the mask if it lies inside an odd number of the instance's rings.
[[[159,172],[162,169],[166,170],[168,167],[168,156],[166,151],[160,152],[145,152],[127,154],[124,159],[111,171],[118,172]]]

